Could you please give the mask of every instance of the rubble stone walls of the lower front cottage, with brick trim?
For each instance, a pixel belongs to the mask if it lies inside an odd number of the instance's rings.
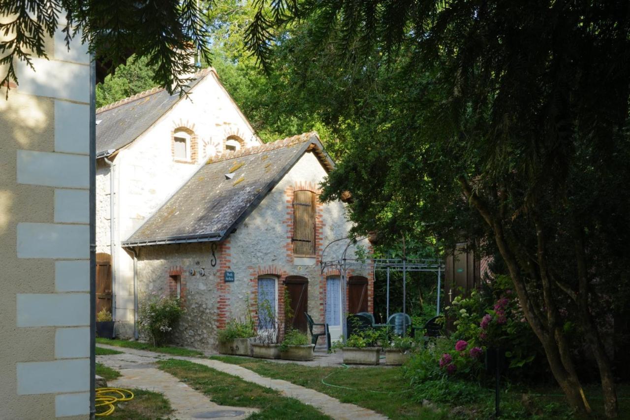
[[[278,318],[284,321],[284,279],[303,276],[309,280],[308,312],[316,321],[324,320],[326,276],[338,271],[321,273],[319,264],[323,248],[331,241],[348,235],[350,223],[341,202],[318,203],[318,249],[312,257],[294,257],[288,247],[292,235],[287,192],[312,188],[326,175],[324,168],[311,152],[304,156],[280,180],[261,204],[238,226],[224,243],[215,245],[217,264],[212,267],[212,245],[176,244],[139,247],[140,296],[152,292],[164,293],[168,288],[168,272],[181,267],[182,281],[186,281],[186,315],[176,334],[176,342],[200,349],[214,349],[216,330],[231,318],[256,318],[258,276],[272,275],[278,279]],[[347,241],[340,241],[326,250],[324,259],[340,257]],[[353,258],[355,247],[348,250]],[[205,277],[199,275],[205,269]],[[190,275],[190,270],[195,270]],[[233,271],[234,283],[224,282],[224,272]],[[354,264],[352,274],[369,278],[373,289],[369,264]],[[370,302],[370,310],[372,310]]]

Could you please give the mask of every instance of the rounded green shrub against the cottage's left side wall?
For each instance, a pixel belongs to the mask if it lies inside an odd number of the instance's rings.
[[[164,295],[158,297],[154,292],[140,305],[138,325],[142,332],[149,335],[154,346],[163,346],[183,313],[179,299]]]

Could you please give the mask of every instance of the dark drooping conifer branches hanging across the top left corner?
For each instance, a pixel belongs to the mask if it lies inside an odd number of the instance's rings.
[[[47,57],[45,39],[52,37],[64,15],[66,43],[81,35],[90,52],[101,62],[120,64],[135,52],[155,67],[155,80],[169,92],[183,91],[198,51],[209,59],[207,31],[196,0],[99,1],[99,0],[5,0],[0,1],[0,66],[6,74],[0,86],[18,83],[16,61],[31,68],[32,57]],[[12,36],[14,35],[14,36]]]

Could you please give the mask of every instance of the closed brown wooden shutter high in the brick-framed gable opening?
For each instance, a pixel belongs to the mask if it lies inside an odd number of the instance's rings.
[[[293,200],[293,253],[315,254],[315,194],[295,191]]]

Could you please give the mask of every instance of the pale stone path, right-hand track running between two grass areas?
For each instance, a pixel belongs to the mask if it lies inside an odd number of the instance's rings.
[[[222,371],[224,373],[228,373],[229,375],[238,376],[243,380],[248,382],[253,382],[258,385],[262,385],[263,387],[269,387],[275,390],[280,391],[282,395],[286,397],[292,397],[297,400],[300,400],[304,404],[312,405],[319,409],[319,411],[327,414],[328,416],[333,417],[334,419],[339,420],[353,420],[353,419],[367,419],[367,420],[386,420],[387,417],[379,414],[375,411],[365,409],[363,407],[358,407],[358,405],[347,404],[340,402],[339,400],[330,397],[329,395],[323,394],[316,390],[312,390],[309,388],[301,387],[299,385],[295,385],[293,383],[287,382],[285,380],[280,379],[272,379],[267,378],[266,376],[258,375],[249,369],[243,368],[237,365],[231,365],[229,363],[224,363],[218,360],[210,360],[210,359],[202,359],[202,358],[190,358],[183,356],[171,356],[169,354],[163,353],[154,353],[152,351],[144,351],[144,350],[136,350],[136,349],[128,349],[125,347],[115,347],[115,346],[106,346],[104,344],[98,344],[99,347],[105,347],[108,349],[113,349],[117,351],[122,351],[125,354],[113,354],[108,356],[97,356],[99,362],[104,363],[107,366],[112,368],[116,368],[117,363],[129,363],[130,361],[134,361],[132,363],[139,363],[140,365],[148,363],[154,363],[158,359],[180,359],[190,361],[192,363],[198,363],[200,365],[208,366],[209,368]],[[129,357],[131,356],[131,357]],[[150,362],[149,362],[150,361]],[[147,366],[148,369],[151,369]],[[145,368],[144,370],[148,370]],[[139,369],[142,370],[142,369]],[[122,373],[122,371],[121,371]],[[138,373],[141,375],[141,372]],[[168,375],[168,373],[165,373]],[[171,376],[171,375],[169,375]],[[173,377],[173,381],[178,381]],[[122,380],[120,380],[122,382]],[[183,384],[185,385],[185,384]],[[187,385],[186,385],[187,386]],[[171,398],[166,395],[166,398],[171,400]],[[207,400],[207,397],[203,397]],[[171,405],[173,404],[173,400],[171,400]],[[226,407],[222,407],[226,408]],[[234,417],[232,417],[234,418]]]

